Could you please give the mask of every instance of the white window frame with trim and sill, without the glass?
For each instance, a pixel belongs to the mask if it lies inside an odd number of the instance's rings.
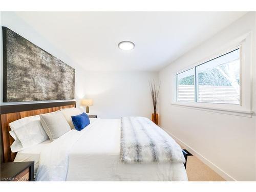
[[[171,104],[176,106],[182,106],[186,108],[193,108],[197,110],[211,111],[217,113],[239,115],[245,117],[251,117],[253,114],[252,111],[252,32],[249,32],[234,41],[230,44],[223,46],[222,51],[216,52],[216,54],[211,55],[189,67],[182,69],[174,74],[174,96]],[[226,104],[226,103],[205,103],[205,102],[196,102],[197,90],[195,90],[195,102],[180,102],[177,101],[177,84],[176,77],[178,74],[187,71],[205,63],[211,59],[215,59],[221,55],[224,55],[230,51],[240,49],[240,104]],[[196,78],[196,74],[195,74]],[[195,79],[195,89],[196,88],[196,79]]]

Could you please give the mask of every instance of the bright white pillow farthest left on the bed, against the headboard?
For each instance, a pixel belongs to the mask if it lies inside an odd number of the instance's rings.
[[[24,117],[9,123],[9,125],[12,130],[9,133],[15,140],[11,146],[12,152],[23,150],[49,139],[42,127],[39,115]]]

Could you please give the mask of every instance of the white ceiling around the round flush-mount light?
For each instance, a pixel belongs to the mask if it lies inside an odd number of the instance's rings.
[[[16,12],[84,69],[117,71],[158,71],[245,13]]]

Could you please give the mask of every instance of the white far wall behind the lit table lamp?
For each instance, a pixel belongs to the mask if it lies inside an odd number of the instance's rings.
[[[103,118],[144,116],[153,112],[148,80],[150,72],[79,72],[83,83],[76,85],[78,98],[93,98],[90,114]],[[79,103],[79,102],[78,102]]]

